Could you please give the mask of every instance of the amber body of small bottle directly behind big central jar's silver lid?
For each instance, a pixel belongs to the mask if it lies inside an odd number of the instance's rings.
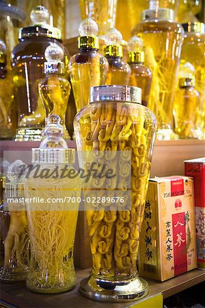
[[[107,71],[105,84],[128,86],[129,77],[131,75],[130,66],[122,61],[121,57],[107,57],[109,68]]]

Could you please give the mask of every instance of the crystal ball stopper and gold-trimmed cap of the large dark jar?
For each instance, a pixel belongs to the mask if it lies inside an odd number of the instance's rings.
[[[49,11],[42,5],[33,8],[30,14],[33,26],[19,29],[18,38],[28,38],[31,36],[43,36],[46,38],[61,39],[61,31],[56,27],[49,25]]]

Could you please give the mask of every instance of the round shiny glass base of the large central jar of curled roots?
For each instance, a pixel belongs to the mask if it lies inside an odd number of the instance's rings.
[[[148,294],[148,283],[138,276],[126,281],[105,281],[90,275],[81,281],[80,292],[102,302],[129,302]]]

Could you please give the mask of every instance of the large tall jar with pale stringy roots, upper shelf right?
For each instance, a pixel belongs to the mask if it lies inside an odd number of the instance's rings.
[[[184,31],[174,22],[174,11],[159,8],[159,1],[150,0],[150,10],[142,12],[142,21],[133,34],[143,40],[145,65],[152,70],[152,86],[148,107],[156,116],[156,138],[176,138],[173,126],[174,90]]]

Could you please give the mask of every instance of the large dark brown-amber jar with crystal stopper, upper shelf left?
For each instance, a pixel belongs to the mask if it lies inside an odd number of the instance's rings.
[[[64,48],[60,31],[49,26],[49,12],[44,7],[34,8],[31,20],[32,26],[20,29],[19,43],[12,51],[15,100],[18,105],[17,141],[41,140],[46,112],[38,94],[38,83],[44,77],[44,52],[52,42]],[[67,58],[66,55],[64,61]]]

